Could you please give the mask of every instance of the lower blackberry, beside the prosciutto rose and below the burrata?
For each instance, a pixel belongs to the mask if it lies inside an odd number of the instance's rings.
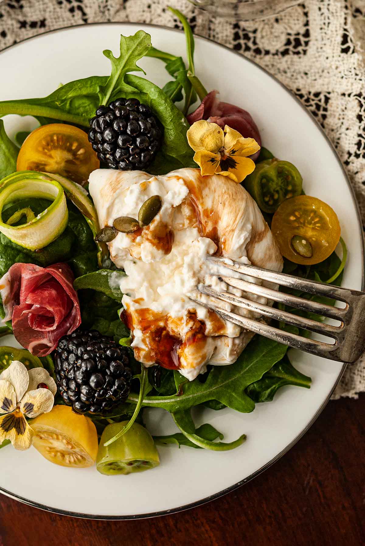
[[[128,349],[97,330],[61,337],[54,360],[58,392],[77,413],[107,413],[129,395]]]

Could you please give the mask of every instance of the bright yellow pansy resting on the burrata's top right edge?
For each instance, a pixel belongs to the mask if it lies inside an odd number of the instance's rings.
[[[217,123],[200,120],[187,132],[188,143],[193,148],[194,161],[201,174],[222,174],[235,182],[242,182],[253,173],[255,163],[248,156],[260,150],[253,138],[244,138],[228,125],[224,131]]]

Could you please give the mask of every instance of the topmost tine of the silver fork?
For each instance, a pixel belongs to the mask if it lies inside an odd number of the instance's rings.
[[[295,277],[294,275],[256,268],[253,265],[246,265],[238,262],[234,262],[233,265],[226,264],[222,258],[215,257],[209,257],[207,259],[209,262],[233,271],[237,271],[243,275],[249,275],[250,277],[260,278],[262,281],[280,284],[281,286],[294,288],[296,290],[301,290],[302,292],[308,292],[309,294],[325,296],[326,298],[336,299],[339,301],[347,302],[348,300],[346,299],[346,296],[350,296],[352,292],[352,290],[350,291],[344,288],[339,288],[333,286],[333,284],[326,284],[325,282],[318,281],[307,281],[307,279]]]

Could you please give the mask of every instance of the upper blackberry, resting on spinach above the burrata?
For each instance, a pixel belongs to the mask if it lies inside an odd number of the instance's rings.
[[[124,98],[99,106],[88,132],[100,161],[119,170],[146,169],[161,146],[161,137],[151,109],[137,99]]]

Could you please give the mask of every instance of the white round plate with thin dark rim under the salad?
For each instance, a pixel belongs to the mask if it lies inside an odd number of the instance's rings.
[[[0,99],[43,97],[62,82],[109,74],[103,49],[118,52],[119,34],[145,28],[153,45],[181,55],[184,36],[171,29],[124,23],[87,25],[40,35],[0,55]],[[268,149],[301,171],[306,193],[324,199],[336,210],[349,247],[344,285],[362,288],[362,229],[354,194],[324,133],[298,100],[256,64],[218,44],[196,38],[196,74],[223,100],[251,112]],[[166,82],[160,61],[141,62],[147,77]],[[33,125],[32,125],[33,123]],[[5,127],[33,128],[32,118],[8,116]],[[3,344],[13,340],[2,339]],[[247,482],[285,453],[319,415],[343,371],[343,365],[292,351],[294,365],[313,379],[310,390],[282,388],[274,402],[253,413],[204,410],[196,420],[210,422],[231,441],[247,434],[247,442],[230,452],[161,447],[161,465],[129,477],[105,477],[95,468],[56,466],[31,448],[0,451],[0,490],[33,506],[91,518],[140,518],[196,506]],[[154,434],[175,431],[167,412],[146,411]],[[6,471],[5,471],[6,469]]]

